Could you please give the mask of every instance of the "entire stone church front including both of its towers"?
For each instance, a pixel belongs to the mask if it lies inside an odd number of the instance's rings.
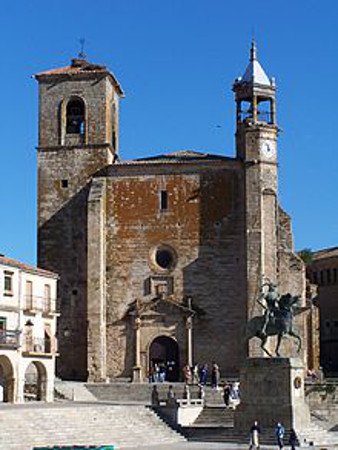
[[[250,62],[233,85],[236,157],[119,157],[123,91],[74,59],[39,82],[38,263],[60,274],[58,374],[172,381],[185,364],[237,374],[262,355],[245,325],[264,280],[305,302],[305,270],[277,197],[276,87]],[[297,317],[306,348],[306,318]],[[284,348],[288,343],[284,343]],[[302,350],[306,362],[306,351]]]

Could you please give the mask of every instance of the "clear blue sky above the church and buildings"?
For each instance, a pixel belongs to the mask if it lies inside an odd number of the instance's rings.
[[[1,2],[0,252],[36,262],[37,84],[86,39],[126,98],[124,159],[194,149],[234,155],[231,85],[251,36],[278,86],[280,200],[296,248],[338,245],[338,2]],[[219,127],[220,125],[220,127]]]

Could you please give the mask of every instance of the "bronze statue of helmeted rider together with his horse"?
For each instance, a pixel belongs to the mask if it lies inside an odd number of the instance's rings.
[[[264,288],[267,286],[267,291]],[[247,323],[247,339],[258,337],[261,340],[262,350],[273,357],[265,347],[269,337],[277,336],[275,355],[280,356],[279,347],[284,336],[291,336],[298,342],[297,353],[302,347],[302,339],[294,329],[294,316],[307,310],[300,306],[300,297],[291,294],[279,295],[277,285],[271,281],[265,282],[261,287],[261,295],[257,299],[264,309],[261,316],[255,316]]]

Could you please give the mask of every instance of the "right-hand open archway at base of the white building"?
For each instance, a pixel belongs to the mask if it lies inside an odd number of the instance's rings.
[[[31,362],[25,372],[25,401],[45,401],[47,387],[47,371],[39,361]]]

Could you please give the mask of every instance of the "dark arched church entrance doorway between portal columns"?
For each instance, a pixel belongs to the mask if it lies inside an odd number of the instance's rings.
[[[153,340],[149,348],[149,367],[157,364],[165,370],[166,381],[178,381],[180,374],[179,348],[175,339],[159,336]]]

